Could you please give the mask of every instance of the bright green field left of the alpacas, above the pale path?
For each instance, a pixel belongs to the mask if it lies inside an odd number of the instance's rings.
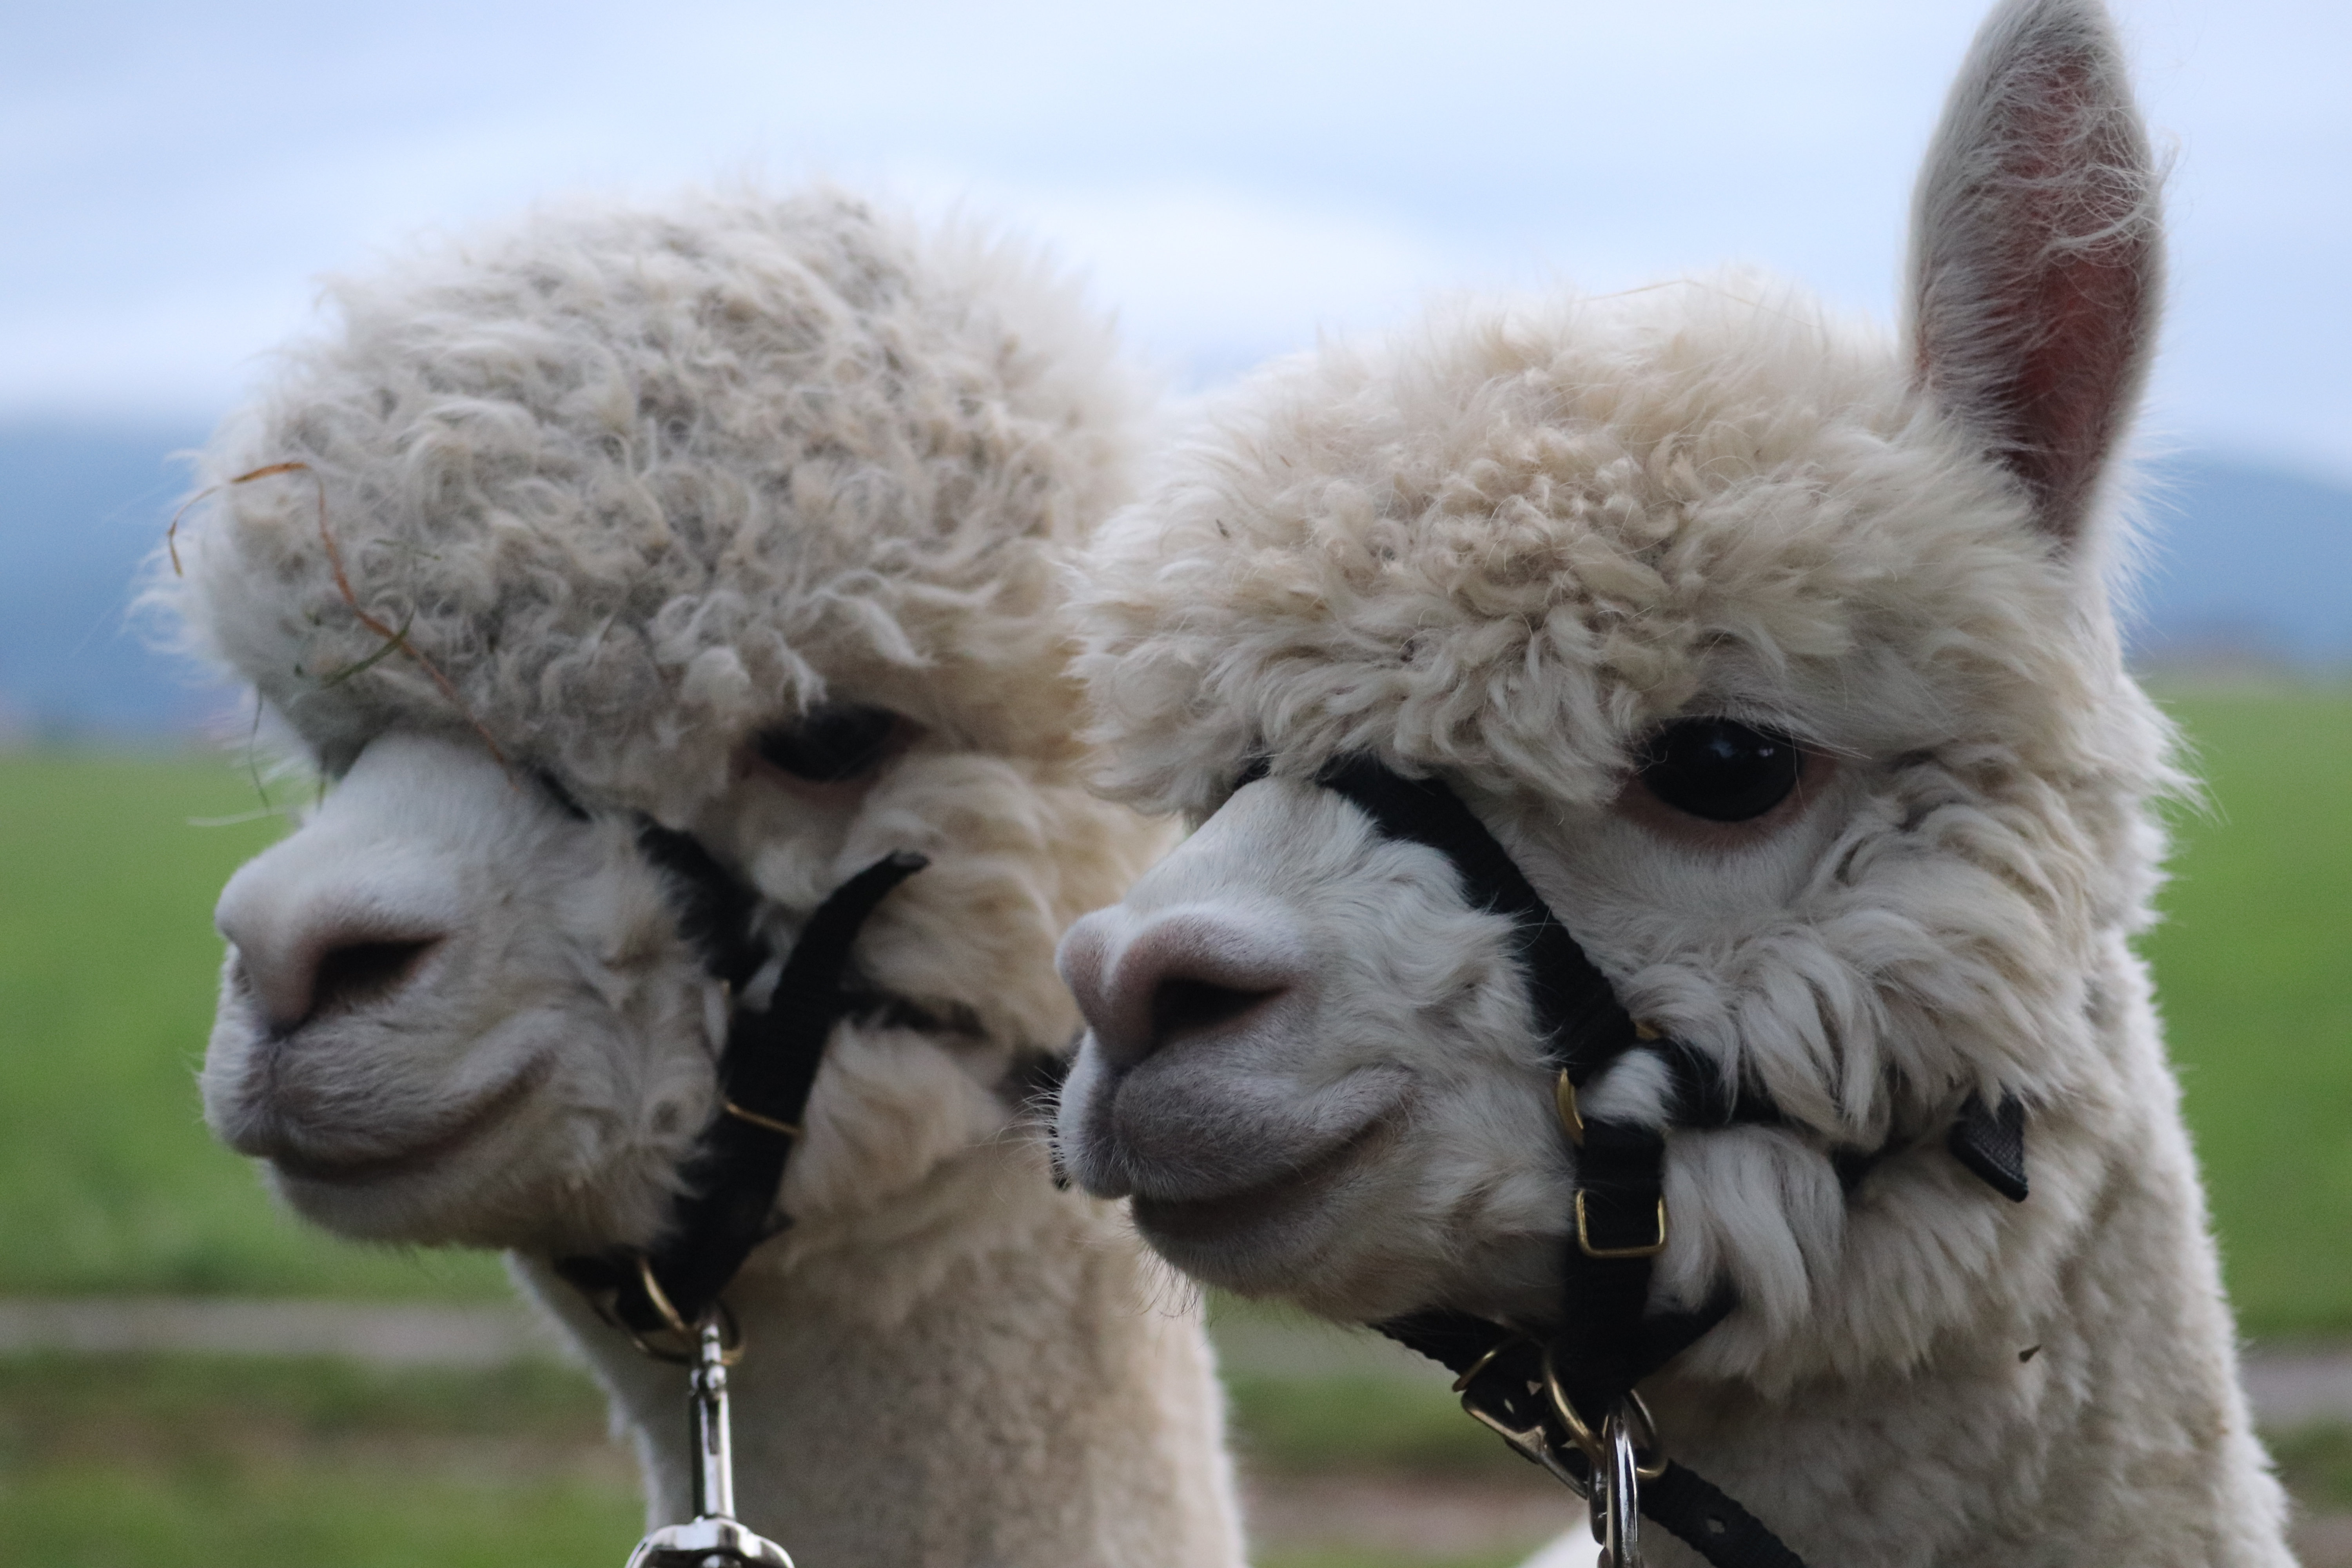
[[[506,1293],[299,1229],[212,1143],[212,900],[280,818],[235,759],[0,755],[0,1293]]]

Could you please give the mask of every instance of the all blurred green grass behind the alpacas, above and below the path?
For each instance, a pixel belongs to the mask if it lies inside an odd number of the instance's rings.
[[[2352,693],[2169,708],[2211,795],[2173,811],[2145,952],[2230,1288],[2258,1340],[2352,1342]],[[0,1295],[506,1300],[492,1258],[303,1232],[207,1138],[209,912],[282,827],[256,804],[240,759],[0,755]],[[1552,1526],[1442,1378],[1235,1363],[1265,1568],[1505,1563]],[[2307,1505],[2352,1509],[2352,1434],[2284,1434],[2281,1455]],[[1430,1479],[1524,1523],[1468,1554],[1284,1523]],[[635,1530],[633,1465],[557,1366],[0,1359],[0,1563],[616,1566]]]

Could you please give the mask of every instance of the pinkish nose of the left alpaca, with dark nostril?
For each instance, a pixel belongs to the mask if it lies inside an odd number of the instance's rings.
[[[390,997],[442,943],[433,922],[372,907],[273,907],[221,898],[216,924],[238,954],[233,980],[252,990],[270,1034]]]

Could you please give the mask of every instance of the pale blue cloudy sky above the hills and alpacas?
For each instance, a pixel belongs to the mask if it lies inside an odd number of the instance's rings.
[[[2117,0],[2176,160],[2157,425],[2352,480],[2352,7]],[[320,273],[811,172],[1047,240],[1178,386],[1435,289],[1719,261],[1893,313],[1978,0],[0,9],[0,418],[223,411]]]

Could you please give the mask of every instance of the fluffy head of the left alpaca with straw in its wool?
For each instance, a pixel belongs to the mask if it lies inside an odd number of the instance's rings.
[[[334,780],[221,898],[212,1126],[350,1234],[649,1244],[727,1027],[661,825],[779,952],[931,858],[863,929],[889,1001],[790,1211],[1002,1131],[1075,1032],[1054,940],[1152,849],[1070,778],[1056,630],[1127,458],[1103,329],[830,193],[548,214],[336,296],[167,590]]]

